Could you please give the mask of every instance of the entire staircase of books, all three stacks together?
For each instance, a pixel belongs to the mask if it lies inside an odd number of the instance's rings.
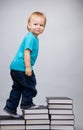
[[[23,118],[0,116],[0,130],[75,130],[71,98],[46,97],[46,103],[23,110]]]

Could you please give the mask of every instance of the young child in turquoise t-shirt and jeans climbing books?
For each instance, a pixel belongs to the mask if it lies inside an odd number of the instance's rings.
[[[28,33],[24,37],[16,56],[10,64],[10,74],[13,80],[10,96],[6,101],[4,111],[12,117],[19,117],[17,107],[34,107],[33,97],[36,96],[36,77],[33,66],[38,56],[39,39],[46,25],[46,16],[42,12],[33,12],[27,23]]]

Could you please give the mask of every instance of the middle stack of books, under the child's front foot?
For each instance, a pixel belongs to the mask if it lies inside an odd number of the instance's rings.
[[[40,106],[23,110],[26,121],[26,130],[49,130],[48,108]]]

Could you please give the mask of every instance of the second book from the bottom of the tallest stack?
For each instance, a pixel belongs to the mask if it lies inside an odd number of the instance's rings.
[[[51,120],[51,125],[74,125],[74,120]]]

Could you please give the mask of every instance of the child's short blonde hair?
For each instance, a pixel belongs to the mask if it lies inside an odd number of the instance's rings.
[[[33,12],[33,13],[29,16],[29,18],[28,18],[28,22],[27,22],[27,29],[28,29],[28,31],[30,31],[29,28],[28,28],[28,25],[29,25],[30,20],[31,20],[31,18],[32,18],[33,16],[43,17],[43,18],[44,18],[44,26],[46,25],[46,16],[45,16],[45,14],[43,14],[42,12],[36,11],[36,12]]]

